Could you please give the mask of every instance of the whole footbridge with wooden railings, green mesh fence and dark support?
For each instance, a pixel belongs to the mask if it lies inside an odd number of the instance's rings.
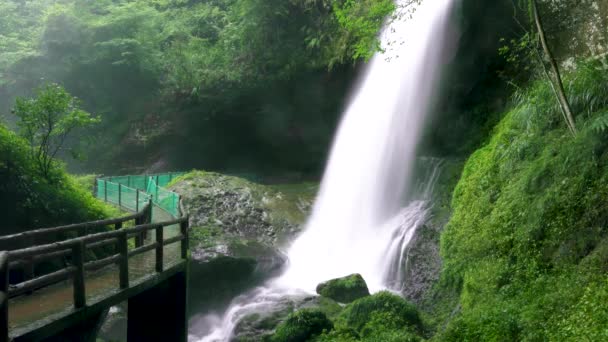
[[[186,341],[188,216],[180,173],[96,179],[124,217],[0,237],[0,342],[95,341],[127,302],[129,341]]]

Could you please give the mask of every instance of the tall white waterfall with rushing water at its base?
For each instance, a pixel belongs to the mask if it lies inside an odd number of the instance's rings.
[[[397,0],[399,6],[410,0]],[[452,0],[425,0],[384,29],[385,53],[367,66],[344,114],[306,229],[278,278],[236,298],[203,341],[229,340],[238,321],[272,310],[320,282],[363,275],[372,292],[399,290],[407,245],[427,219],[428,196],[407,198],[416,146],[432,111],[446,56]],[[403,17],[409,17],[403,13]],[[436,179],[437,167],[427,184]],[[430,190],[426,192],[430,194]],[[192,336],[191,339],[197,338]]]

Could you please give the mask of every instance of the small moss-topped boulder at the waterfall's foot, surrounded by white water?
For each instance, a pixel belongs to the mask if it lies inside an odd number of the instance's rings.
[[[350,303],[369,296],[367,283],[360,274],[332,279],[317,285],[317,293],[340,303]]]

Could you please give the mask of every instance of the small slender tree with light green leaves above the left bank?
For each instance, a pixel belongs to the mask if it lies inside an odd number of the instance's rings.
[[[80,107],[80,101],[58,84],[38,88],[35,98],[15,101],[13,113],[19,118],[19,133],[29,142],[32,158],[46,179],[68,136],[101,121]]]

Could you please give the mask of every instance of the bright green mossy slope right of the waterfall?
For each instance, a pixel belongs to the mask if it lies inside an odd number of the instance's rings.
[[[607,82],[585,66],[567,78],[575,138],[548,84],[520,91],[467,161],[441,241],[442,286],[460,312],[438,340],[580,340],[582,322],[601,327],[590,340],[605,336],[592,301],[606,290],[608,145],[587,123],[606,110]]]

